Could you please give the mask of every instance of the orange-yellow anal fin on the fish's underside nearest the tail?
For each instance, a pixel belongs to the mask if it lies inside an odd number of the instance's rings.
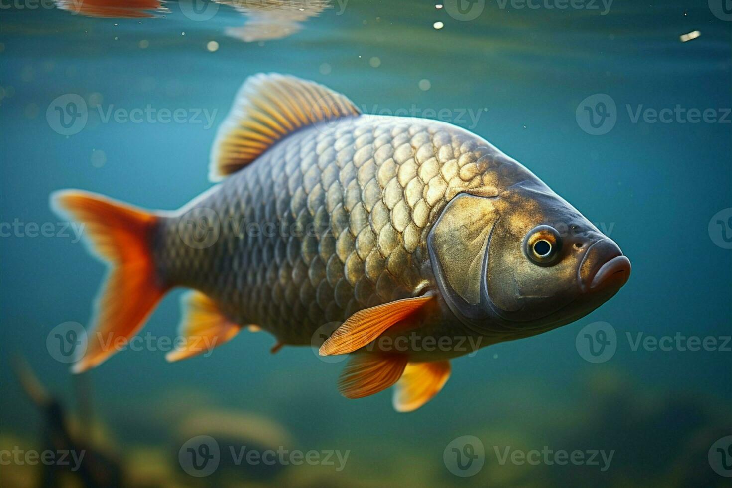
[[[190,291],[181,301],[183,318],[178,334],[184,342],[165,355],[179,361],[206,353],[234,337],[242,328],[223,316],[212,299],[200,291]]]

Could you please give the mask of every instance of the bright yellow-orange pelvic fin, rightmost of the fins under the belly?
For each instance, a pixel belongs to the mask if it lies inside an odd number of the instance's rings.
[[[411,412],[439,393],[450,377],[449,361],[409,363],[394,391],[394,410]]]

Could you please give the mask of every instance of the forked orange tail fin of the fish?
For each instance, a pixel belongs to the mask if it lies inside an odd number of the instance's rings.
[[[59,209],[83,222],[91,250],[110,266],[97,301],[94,332],[74,364],[83,372],[108,359],[141,329],[167,287],[155,275],[150,242],[158,217],[124,203],[77,190],[52,196]]]

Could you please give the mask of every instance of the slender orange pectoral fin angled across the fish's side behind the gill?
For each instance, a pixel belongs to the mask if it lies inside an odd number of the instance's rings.
[[[354,313],[321,345],[321,356],[351,353],[384,334],[395,323],[408,318],[432,301],[433,295],[403,299]]]

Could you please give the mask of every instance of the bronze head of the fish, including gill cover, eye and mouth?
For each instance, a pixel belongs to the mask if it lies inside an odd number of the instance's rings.
[[[427,247],[449,308],[486,333],[526,337],[578,320],[630,277],[620,247],[537,181],[456,195]]]

